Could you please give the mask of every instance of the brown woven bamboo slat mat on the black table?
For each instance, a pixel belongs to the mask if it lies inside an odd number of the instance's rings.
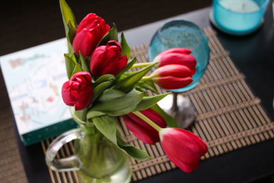
[[[210,63],[200,84],[182,93],[195,106],[195,123],[190,131],[199,135],[208,144],[208,153],[201,158],[205,160],[235,149],[266,141],[274,137],[274,124],[260,105],[260,99],[253,95],[242,75],[229,58],[216,38],[212,29],[204,29],[209,40]],[[147,61],[147,45],[132,49],[132,56],[138,62]],[[131,160],[132,180],[142,180],[151,175],[175,169],[175,165],[166,157],[160,143],[147,145],[127,130],[121,123],[125,139],[132,145],[145,149],[153,157],[144,162]],[[42,141],[42,149],[46,150],[52,141]],[[65,145],[59,157],[72,154],[73,144]],[[52,182],[78,182],[75,171],[58,173],[49,169]]]

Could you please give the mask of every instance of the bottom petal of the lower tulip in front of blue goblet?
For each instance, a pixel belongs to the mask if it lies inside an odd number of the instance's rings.
[[[173,77],[173,76],[166,76],[166,77],[156,77],[152,79],[153,82],[156,82],[162,88],[167,90],[174,90],[178,88],[183,88],[188,86],[188,84],[192,83],[192,77]]]

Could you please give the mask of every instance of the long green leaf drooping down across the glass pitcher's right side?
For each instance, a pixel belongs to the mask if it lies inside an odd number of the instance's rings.
[[[145,151],[125,143],[116,127],[116,120],[108,115],[92,118],[93,123],[108,140],[136,160],[151,158]]]

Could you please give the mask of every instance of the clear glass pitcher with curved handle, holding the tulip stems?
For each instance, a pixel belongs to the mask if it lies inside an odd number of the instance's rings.
[[[73,119],[79,123],[79,128],[61,134],[49,145],[46,154],[48,167],[54,171],[76,170],[79,182],[129,182],[132,170],[127,154],[105,138],[92,123],[81,121],[74,114]],[[73,140],[74,155],[55,158],[58,150]]]

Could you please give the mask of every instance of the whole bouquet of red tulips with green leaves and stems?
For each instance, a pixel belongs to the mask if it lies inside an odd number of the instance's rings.
[[[77,25],[69,5],[60,0],[69,53],[64,54],[69,80],[62,86],[64,103],[75,115],[92,123],[117,147],[136,160],[150,158],[145,151],[125,143],[116,129],[115,117],[140,141],[153,145],[160,141],[166,156],[185,172],[197,169],[207,146],[199,136],[177,128],[175,120],[157,102],[169,93],[159,94],[158,84],[177,89],[192,82],[196,60],[191,51],[168,49],[153,62],[136,63],[123,33],[94,13]],[[154,67],[153,73],[147,75]],[[140,68],[138,71],[129,71]],[[146,90],[155,95],[149,96]]]

